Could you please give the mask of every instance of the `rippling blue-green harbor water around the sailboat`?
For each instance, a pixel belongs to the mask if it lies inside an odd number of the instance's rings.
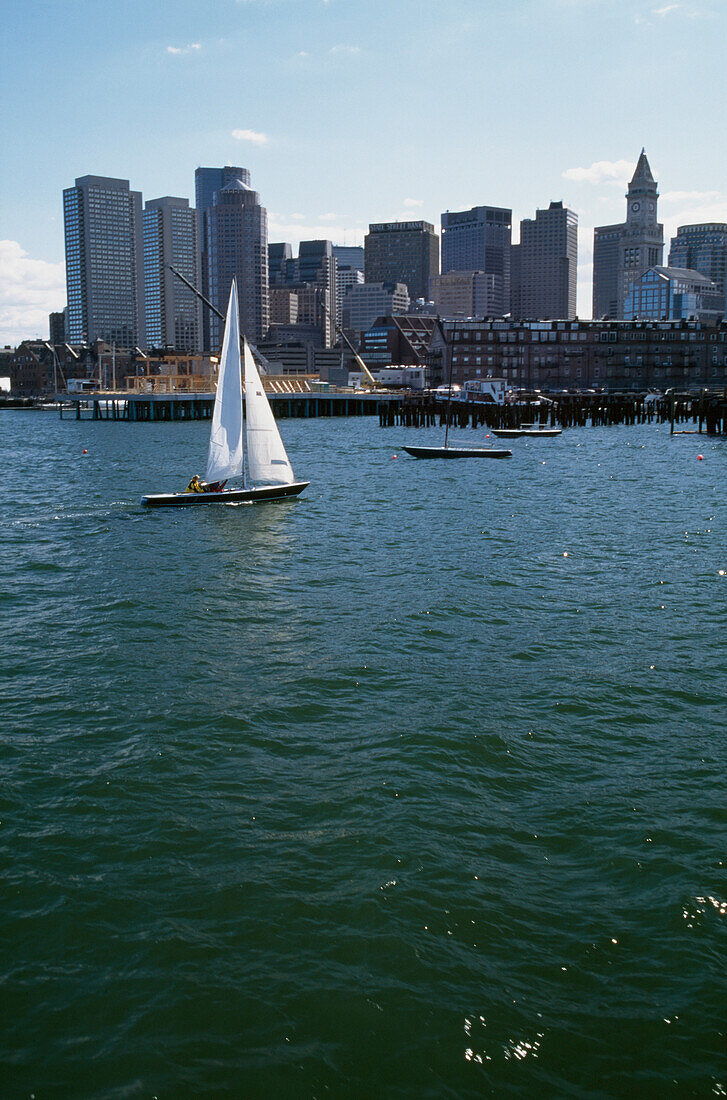
[[[725,1096],[725,443],[283,432],[2,414],[3,1096]]]

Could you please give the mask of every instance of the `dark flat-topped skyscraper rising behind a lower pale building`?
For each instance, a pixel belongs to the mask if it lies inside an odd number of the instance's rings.
[[[510,308],[511,235],[513,211],[505,207],[473,207],[442,215],[442,275],[494,275],[493,314],[499,317]]]

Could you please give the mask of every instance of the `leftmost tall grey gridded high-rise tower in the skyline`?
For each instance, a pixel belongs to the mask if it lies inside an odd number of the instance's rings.
[[[128,179],[79,176],[63,193],[70,343],[145,342],[142,197]]]

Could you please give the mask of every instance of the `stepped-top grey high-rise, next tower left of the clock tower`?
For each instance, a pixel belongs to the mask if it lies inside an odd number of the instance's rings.
[[[524,218],[510,261],[513,317],[575,317],[579,217],[573,210],[551,202],[535,218]]]

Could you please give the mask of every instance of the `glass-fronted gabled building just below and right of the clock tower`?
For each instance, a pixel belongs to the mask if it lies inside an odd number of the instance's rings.
[[[717,320],[725,315],[725,295],[700,272],[683,267],[650,267],[631,283],[626,320]]]

